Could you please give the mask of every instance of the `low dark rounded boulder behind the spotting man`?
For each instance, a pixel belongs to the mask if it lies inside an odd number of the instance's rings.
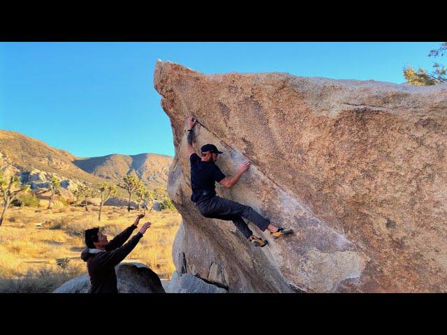
[[[115,267],[119,293],[165,293],[159,276],[141,263],[120,263]],[[53,293],[88,293],[89,276],[83,274],[67,281]]]

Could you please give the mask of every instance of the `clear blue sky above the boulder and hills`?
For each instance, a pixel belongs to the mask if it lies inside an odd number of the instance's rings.
[[[174,155],[156,59],[202,73],[287,72],[402,83],[440,43],[0,43],[0,129],[80,157]]]

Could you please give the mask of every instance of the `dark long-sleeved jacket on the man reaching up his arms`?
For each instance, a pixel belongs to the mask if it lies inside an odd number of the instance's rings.
[[[90,276],[90,293],[118,292],[115,266],[124,260],[140,241],[142,234],[137,232],[124,244],[135,228],[135,225],[131,225],[123,230],[105,246],[104,252],[89,253],[88,248],[82,251],[81,258],[87,262],[87,270]]]

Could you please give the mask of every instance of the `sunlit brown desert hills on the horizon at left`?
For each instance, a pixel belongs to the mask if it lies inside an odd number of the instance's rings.
[[[172,157],[158,154],[80,158],[20,133],[0,131],[0,168],[6,165],[20,170],[22,182],[37,183],[36,187],[54,174],[67,179],[67,185],[84,181],[96,185],[103,181],[117,184],[135,171],[148,186],[166,188],[172,161]]]

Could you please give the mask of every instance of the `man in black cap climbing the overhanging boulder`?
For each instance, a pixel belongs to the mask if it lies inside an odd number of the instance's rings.
[[[214,181],[217,181],[225,188],[232,188],[240,179],[242,174],[250,167],[249,162],[244,162],[240,165],[240,169],[233,176],[226,177],[221,172],[219,167],[214,164],[217,161],[221,151],[217,150],[214,144],[205,144],[201,148],[202,158],[196,154],[193,148],[193,127],[196,124],[197,119],[193,117],[188,118],[188,151],[189,161],[191,162],[191,188],[192,195],[191,201],[196,203],[196,207],[200,214],[205,218],[219,218],[221,220],[233,221],[242,234],[244,234],[249,241],[255,246],[265,246],[268,241],[256,237],[249,229],[247,223],[242,219],[253,222],[261,231],[266,229],[270,231],[274,239],[291,234],[293,230],[287,228],[276,227],[270,223],[266,218],[263,218],[260,214],[256,213],[254,209],[244,204],[227,200],[216,195]]]

